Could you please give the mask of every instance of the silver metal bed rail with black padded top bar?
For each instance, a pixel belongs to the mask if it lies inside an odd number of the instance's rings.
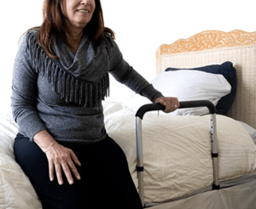
[[[212,161],[213,161],[213,184],[212,189],[219,189],[218,184],[218,139],[216,130],[216,108],[212,102],[208,100],[195,100],[179,102],[180,108],[192,108],[206,106],[209,110],[211,117],[211,139],[212,139]],[[162,104],[145,104],[136,114],[136,136],[137,136],[137,173],[138,173],[138,185],[139,195],[144,206],[144,189],[143,189],[143,128],[142,120],[145,113],[154,110],[165,110],[165,106]]]

